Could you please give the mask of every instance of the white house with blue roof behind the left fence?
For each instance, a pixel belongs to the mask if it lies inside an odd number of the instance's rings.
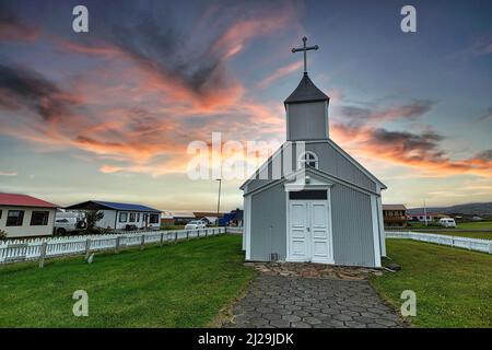
[[[161,228],[161,210],[142,205],[120,203],[102,200],[87,200],[69,206],[68,210],[97,210],[104,218],[97,221],[96,226],[113,230],[134,230]]]

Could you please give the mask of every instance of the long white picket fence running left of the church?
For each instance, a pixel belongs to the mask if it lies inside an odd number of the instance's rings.
[[[148,244],[164,244],[224,233],[225,228],[208,228],[200,230],[132,231],[125,234],[12,240],[0,242],[0,264],[37,259],[39,265],[43,266],[44,260],[51,257],[77,254],[89,256],[92,252],[119,252],[125,247],[131,246],[141,246],[143,248]]]

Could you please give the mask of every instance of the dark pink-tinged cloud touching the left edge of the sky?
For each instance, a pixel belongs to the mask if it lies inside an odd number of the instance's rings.
[[[0,65],[0,106],[16,109],[25,106],[44,120],[70,115],[74,98],[65,94],[43,75],[24,69]]]

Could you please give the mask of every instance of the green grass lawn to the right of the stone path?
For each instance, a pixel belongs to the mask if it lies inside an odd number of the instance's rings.
[[[417,293],[420,327],[492,327],[492,256],[409,240],[387,240],[401,266],[371,282],[398,310],[403,290]]]

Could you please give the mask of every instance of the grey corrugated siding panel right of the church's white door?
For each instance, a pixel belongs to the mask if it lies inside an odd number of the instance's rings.
[[[352,188],[331,188],[335,264],[374,266],[371,197]]]

